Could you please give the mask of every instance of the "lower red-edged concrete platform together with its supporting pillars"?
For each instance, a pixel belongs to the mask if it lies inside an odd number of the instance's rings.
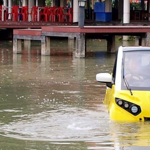
[[[107,51],[115,52],[115,35],[138,36],[138,45],[149,46],[150,26],[42,26],[41,29],[15,29],[13,31],[14,53],[21,53],[17,40],[40,40],[41,54],[50,55],[50,37],[68,37],[76,42],[75,56],[85,57],[86,38],[104,38],[107,40]],[[146,39],[147,38],[147,39]],[[75,40],[75,41],[74,41]]]

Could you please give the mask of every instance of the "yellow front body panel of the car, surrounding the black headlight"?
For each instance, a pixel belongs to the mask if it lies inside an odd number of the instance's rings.
[[[110,113],[110,119],[116,121],[144,121],[144,117],[150,118],[150,91],[132,91],[131,95],[128,90],[115,91],[115,85],[106,90],[104,104]],[[134,116],[116,104],[115,98],[119,98],[141,107],[141,113]],[[144,108],[144,109],[143,109]]]

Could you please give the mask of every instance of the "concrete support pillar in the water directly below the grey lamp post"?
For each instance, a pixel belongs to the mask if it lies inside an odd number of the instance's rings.
[[[81,33],[76,37],[75,57],[85,57],[86,54],[86,39],[85,34]]]

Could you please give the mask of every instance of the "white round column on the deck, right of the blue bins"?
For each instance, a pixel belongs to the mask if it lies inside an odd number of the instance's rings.
[[[123,23],[130,23],[130,0],[124,0]]]

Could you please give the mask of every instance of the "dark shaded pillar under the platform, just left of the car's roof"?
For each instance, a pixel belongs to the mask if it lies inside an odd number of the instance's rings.
[[[115,53],[115,35],[109,35],[107,39],[107,52]]]

